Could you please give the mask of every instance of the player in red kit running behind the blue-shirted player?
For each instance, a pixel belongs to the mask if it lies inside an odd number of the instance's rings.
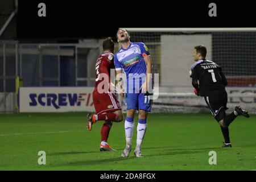
[[[97,114],[88,114],[87,129],[92,130],[92,125],[97,121],[105,121],[101,129],[100,151],[115,151],[108,144],[109,131],[112,122],[121,122],[123,114],[121,106],[111,92],[114,84],[110,81],[110,69],[114,69],[114,42],[112,38],[104,40],[103,53],[96,61],[96,82],[93,90],[93,104]]]

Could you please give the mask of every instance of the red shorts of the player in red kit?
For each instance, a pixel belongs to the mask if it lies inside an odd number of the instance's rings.
[[[98,93],[93,91],[93,105],[97,114],[110,113],[116,110],[121,110],[121,106],[117,97],[111,92]]]

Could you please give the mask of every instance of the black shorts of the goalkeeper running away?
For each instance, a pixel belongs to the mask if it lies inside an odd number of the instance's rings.
[[[228,109],[226,107],[226,103],[228,102],[228,94],[226,92],[213,96],[205,96],[204,100],[217,122],[225,118],[226,110]]]

